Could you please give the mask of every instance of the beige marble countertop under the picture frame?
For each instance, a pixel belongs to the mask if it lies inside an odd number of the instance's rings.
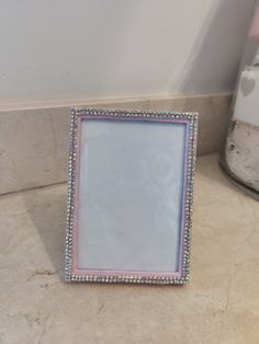
[[[259,343],[259,204],[199,159],[190,283],[63,282],[66,185],[0,197],[0,343]]]

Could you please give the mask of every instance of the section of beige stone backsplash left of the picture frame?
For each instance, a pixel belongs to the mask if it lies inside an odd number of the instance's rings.
[[[67,177],[69,110],[0,112],[0,194]]]

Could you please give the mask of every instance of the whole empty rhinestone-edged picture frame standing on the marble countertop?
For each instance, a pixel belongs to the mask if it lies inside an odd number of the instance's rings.
[[[196,131],[196,113],[71,108],[67,282],[188,282]]]

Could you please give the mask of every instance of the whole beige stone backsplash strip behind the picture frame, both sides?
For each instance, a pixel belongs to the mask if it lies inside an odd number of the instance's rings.
[[[200,113],[198,152],[218,151],[230,95],[144,99],[91,103],[106,108],[170,110]],[[0,111],[0,194],[66,181],[68,106]]]

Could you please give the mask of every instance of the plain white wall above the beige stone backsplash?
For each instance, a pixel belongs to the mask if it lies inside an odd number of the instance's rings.
[[[1,104],[233,90],[255,0],[0,0]]]

